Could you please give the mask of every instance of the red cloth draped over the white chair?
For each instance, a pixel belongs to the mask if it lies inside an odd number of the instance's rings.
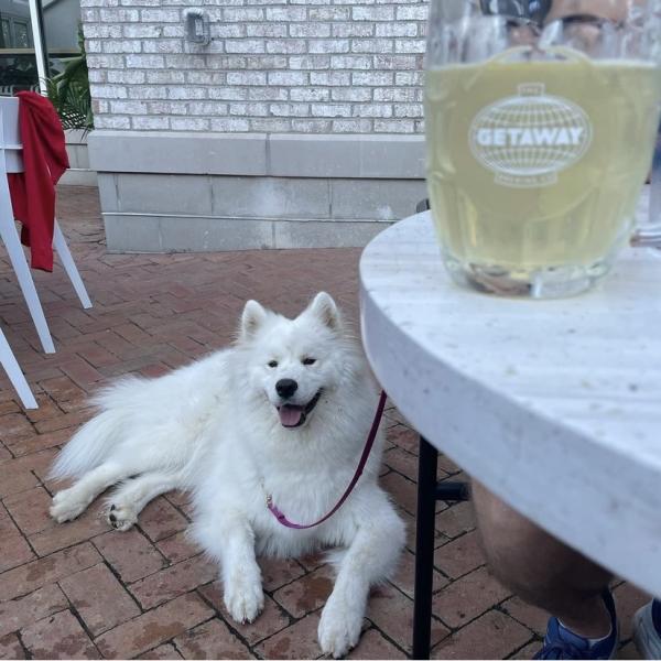
[[[64,130],[51,101],[35,91],[19,91],[19,124],[24,172],[9,175],[14,217],[23,225],[31,266],[53,270],[55,184],[69,166]]]

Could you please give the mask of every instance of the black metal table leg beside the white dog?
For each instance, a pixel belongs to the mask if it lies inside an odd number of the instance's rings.
[[[421,436],[418,458],[413,659],[430,658],[437,458],[436,448]]]

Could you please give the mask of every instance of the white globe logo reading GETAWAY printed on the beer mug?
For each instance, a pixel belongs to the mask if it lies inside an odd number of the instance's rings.
[[[511,187],[549,186],[579,161],[593,129],[576,104],[544,94],[540,83],[520,85],[518,95],[487,106],[473,120],[473,155]]]

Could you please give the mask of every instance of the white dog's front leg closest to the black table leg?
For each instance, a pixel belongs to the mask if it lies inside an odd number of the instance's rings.
[[[322,650],[344,657],[360,638],[371,585],[393,571],[404,544],[404,527],[386,500],[359,525],[340,565],[318,627]]]

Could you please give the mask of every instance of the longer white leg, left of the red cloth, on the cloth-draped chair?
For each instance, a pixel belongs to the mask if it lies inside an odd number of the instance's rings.
[[[14,224],[7,175],[2,174],[3,173],[0,172],[0,238],[2,238],[7,248],[11,266],[19,280],[19,286],[23,292],[23,297],[30,310],[32,321],[34,322],[44,351],[46,354],[54,354],[55,346],[53,345],[53,338],[51,337],[48,324],[46,323],[44,311],[36,294],[32,273],[30,273],[30,267],[25,260],[25,253],[23,252],[21,239],[19,238],[19,232],[17,231],[17,226]]]

